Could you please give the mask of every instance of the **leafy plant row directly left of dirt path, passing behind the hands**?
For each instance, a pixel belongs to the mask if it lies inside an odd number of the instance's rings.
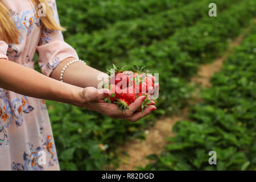
[[[228,39],[236,36],[254,15],[255,11],[252,9],[255,4],[253,3],[247,0],[233,5],[230,2],[233,6],[230,6],[224,13],[218,14],[217,18],[208,17],[200,20],[193,27],[180,28],[167,40],[153,43],[152,46],[135,48],[129,52],[128,59],[120,60],[125,64],[146,65],[152,73],[160,73],[160,90],[162,91],[158,107],[161,109],[158,109],[156,115],[170,113],[175,105],[180,107],[186,104],[185,99],[189,97],[191,87],[187,85],[185,78],[195,73],[199,63],[204,63],[210,57],[221,54],[222,49],[218,49],[218,46],[225,49]],[[208,9],[208,7],[205,8]],[[224,26],[221,25],[222,23]],[[210,38],[207,38],[206,31]],[[181,36],[180,41],[179,36]],[[199,41],[201,39],[202,41]],[[221,40],[221,43],[214,39]],[[213,52],[207,49],[208,44],[210,48],[214,48]],[[79,49],[79,47],[73,47]],[[195,49],[191,51],[189,48],[193,47]],[[205,56],[208,53],[211,56],[203,59],[204,57],[194,53],[200,52],[201,49],[207,50]],[[85,56],[80,52],[79,55]],[[108,56],[108,52],[105,52],[105,55]],[[106,61],[101,70],[105,71],[106,65],[110,63],[113,61]],[[154,121],[155,117],[151,114],[150,117],[139,122],[129,123],[71,105],[52,101],[47,101],[47,105],[61,169],[102,169],[104,164],[115,162],[114,151],[119,144],[129,137],[143,137],[139,128],[146,126],[149,121]]]

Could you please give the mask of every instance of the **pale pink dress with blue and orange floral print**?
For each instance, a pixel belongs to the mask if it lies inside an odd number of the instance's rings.
[[[55,0],[47,2],[59,23]],[[62,60],[68,57],[79,59],[75,49],[64,42],[60,31],[40,28],[39,9],[32,2],[6,0],[3,5],[12,14],[20,38],[19,44],[8,45],[0,41],[1,59],[34,69],[33,58],[37,51],[39,67],[46,76]],[[0,88],[0,170],[59,169],[44,100]]]

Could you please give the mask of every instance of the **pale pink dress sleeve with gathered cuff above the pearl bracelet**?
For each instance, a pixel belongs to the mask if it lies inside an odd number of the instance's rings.
[[[60,23],[55,0],[48,1],[48,3],[57,23]],[[36,51],[38,52],[39,67],[46,76],[51,75],[53,69],[64,59],[68,57],[79,59],[75,49],[64,42],[61,31],[47,30],[47,28],[42,30]]]

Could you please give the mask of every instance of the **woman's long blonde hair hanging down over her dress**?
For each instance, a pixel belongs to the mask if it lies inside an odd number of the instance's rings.
[[[30,1],[30,0],[28,0]],[[53,17],[51,8],[49,7],[47,0],[31,0],[32,3],[38,7],[39,3],[42,3],[45,8],[46,16],[40,16],[42,21],[42,26],[46,27],[49,30],[64,31],[65,28],[61,27],[59,23],[56,22],[56,19]],[[36,11],[38,11],[36,9]],[[37,12],[38,14],[38,12]],[[9,44],[19,44],[19,31],[16,28],[13,20],[10,18],[11,14],[0,2],[0,40],[3,40]]]

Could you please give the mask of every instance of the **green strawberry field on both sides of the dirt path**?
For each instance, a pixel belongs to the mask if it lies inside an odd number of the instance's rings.
[[[217,16],[209,17],[209,3]],[[188,105],[200,65],[227,51],[256,16],[253,0],[74,0],[57,1],[65,41],[80,59],[106,72],[113,63],[146,66],[159,73],[152,114],[135,123],[47,101],[61,169],[101,170],[118,166],[118,147],[145,138],[143,130]],[[202,90],[203,103],[177,122],[162,155],[138,169],[255,169],[255,26]],[[218,154],[209,166],[208,152]]]

